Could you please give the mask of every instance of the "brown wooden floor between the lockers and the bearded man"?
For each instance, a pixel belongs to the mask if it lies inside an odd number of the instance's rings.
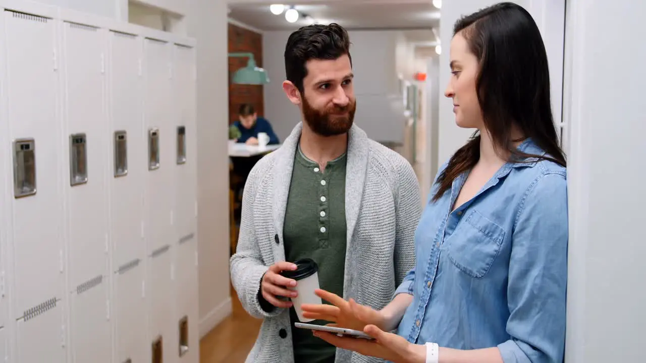
[[[247,314],[231,289],[233,313],[200,341],[200,363],[244,363],[262,320]]]

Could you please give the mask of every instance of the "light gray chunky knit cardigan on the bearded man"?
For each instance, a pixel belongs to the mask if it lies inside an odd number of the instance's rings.
[[[249,173],[231,281],[244,309],[264,318],[246,362],[293,363],[289,311],[260,307],[260,280],[269,265],[285,259],[283,222],[302,123],[280,149]],[[413,236],[421,214],[419,183],[410,163],[368,139],[356,125],[349,131],[346,169],[347,252],[344,298],[381,309],[415,264]],[[336,362],[382,362],[337,349]]]

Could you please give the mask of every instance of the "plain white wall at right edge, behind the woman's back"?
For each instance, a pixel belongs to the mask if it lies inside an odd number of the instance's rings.
[[[568,0],[567,363],[644,361],[643,14],[643,1]]]

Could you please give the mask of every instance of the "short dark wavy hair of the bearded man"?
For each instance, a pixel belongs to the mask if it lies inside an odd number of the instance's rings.
[[[293,32],[285,47],[285,74],[287,81],[293,83],[303,93],[303,79],[307,76],[306,63],[310,59],[338,59],[350,57],[350,38],[348,32],[339,24],[308,25]]]

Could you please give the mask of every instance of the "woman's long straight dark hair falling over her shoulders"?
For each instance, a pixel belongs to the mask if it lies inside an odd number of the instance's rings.
[[[554,161],[565,166],[550,103],[550,74],[543,38],[532,16],[514,3],[499,3],[459,19],[453,36],[461,32],[479,62],[477,97],[486,130],[499,154],[508,161],[526,158]],[[532,138],[546,154],[520,152],[512,140],[512,125]],[[472,138],[449,160],[438,176],[437,201],[453,180],[472,169],[480,158],[481,136]]]

